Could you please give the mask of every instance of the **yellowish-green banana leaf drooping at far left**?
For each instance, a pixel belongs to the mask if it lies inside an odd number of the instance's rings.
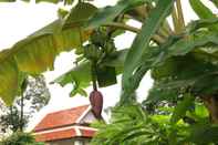
[[[73,14],[80,14],[81,11]],[[90,37],[90,31],[81,30],[73,22],[71,28],[64,29],[62,23],[59,19],[19,41],[10,50],[0,52],[0,80],[3,82],[0,85],[0,97],[7,104],[11,104],[19,95],[22,73],[34,75],[53,70],[54,59],[60,52],[80,48]]]

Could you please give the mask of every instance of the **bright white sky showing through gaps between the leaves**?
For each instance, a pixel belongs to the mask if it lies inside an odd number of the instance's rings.
[[[214,8],[211,3],[207,2],[207,0],[203,1],[209,4],[217,13],[217,9]],[[94,1],[94,4],[97,7],[115,3],[116,0]],[[183,0],[183,6],[185,6],[184,12],[186,15],[186,22],[196,20],[197,17],[191,12],[188,0]],[[34,2],[25,3],[21,1],[15,3],[0,3],[0,50],[12,46],[17,41],[24,39],[29,34],[55,20],[58,18],[56,10],[61,7],[63,6],[44,2],[40,4],[35,4]],[[129,23],[136,27],[141,27],[139,23],[134,21]],[[116,46],[118,49],[129,48],[134,40],[134,37],[135,34],[131,32],[123,34],[122,37],[117,37],[115,40]],[[34,117],[31,120],[29,128],[32,128],[49,112],[89,103],[87,97],[79,95],[74,97],[69,96],[69,93],[72,90],[72,85],[61,87],[59,84],[49,84],[49,82],[53,81],[59,75],[73,68],[74,61],[75,55],[73,54],[73,52],[63,52],[55,60],[54,71],[44,73],[52,97],[49,104],[34,115]],[[143,101],[146,97],[152,83],[153,81],[150,80],[149,74],[147,74],[143,79],[141,87],[137,90],[138,101]],[[89,87],[87,92],[91,91],[91,87]],[[121,76],[118,76],[118,83],[116,85],[101,89],[101,92],[104,95],[104,108],[115,105],[115,103],[118,101],[121,92]]]

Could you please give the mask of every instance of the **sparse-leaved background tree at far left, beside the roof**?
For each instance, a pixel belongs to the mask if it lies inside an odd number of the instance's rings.
[[[15,133],[28,125],[32,115],[49,103],[50,93],[43,75],[29,76],[25,91],[12,106],[1,104],[0,125],[2,133]],[[22,116],[21,116],[22,115]]]

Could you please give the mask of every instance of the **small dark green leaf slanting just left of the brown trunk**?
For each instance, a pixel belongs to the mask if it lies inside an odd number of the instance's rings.
[[[186,112],[191,108],[194,97],[190,94],[185,94],[184,100],[177,104],[172,115],[170,122],[177,123],[186,115]]]

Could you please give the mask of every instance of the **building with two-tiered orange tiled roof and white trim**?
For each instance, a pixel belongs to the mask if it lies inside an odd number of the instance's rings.
[[[48,114],[34,127],[38,142],[46,145],[89,145],[96,130],[90,127],[96,121],[90,105]]]

